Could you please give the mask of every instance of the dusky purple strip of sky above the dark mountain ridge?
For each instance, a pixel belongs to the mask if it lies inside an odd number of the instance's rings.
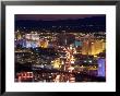
[[[53,20],[76,20],[82,17],[91,16],[104,16],[105,14],[15,14],[15,20],[43,20],[43,21],[53,21]]]

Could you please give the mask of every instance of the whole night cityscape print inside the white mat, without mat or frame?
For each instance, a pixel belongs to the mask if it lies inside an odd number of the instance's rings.
[[[15,82],[106,82],[104,14],[16,14],[14,45]]]

